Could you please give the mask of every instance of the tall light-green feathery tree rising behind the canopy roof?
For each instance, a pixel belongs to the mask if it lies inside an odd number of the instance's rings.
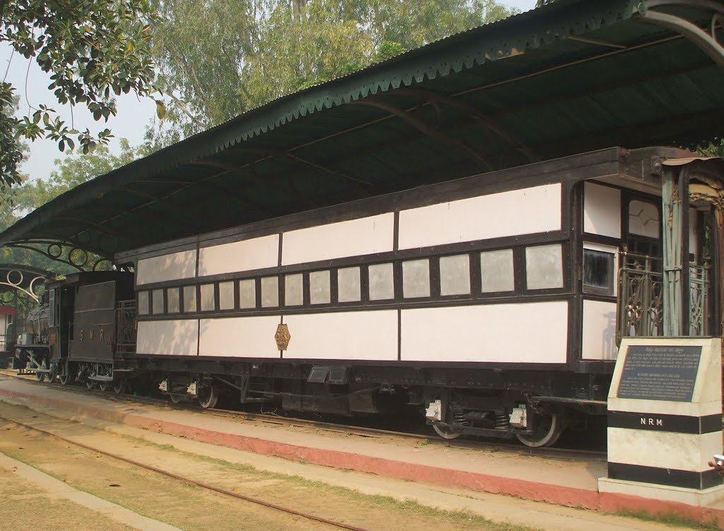
[[[494,0],[155,1],[164,143],[513,13]]]

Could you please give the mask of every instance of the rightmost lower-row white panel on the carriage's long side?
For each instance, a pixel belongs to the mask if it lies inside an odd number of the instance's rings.
[[[565,363],[568,303],[403,310],[401,337],[403,361]]]

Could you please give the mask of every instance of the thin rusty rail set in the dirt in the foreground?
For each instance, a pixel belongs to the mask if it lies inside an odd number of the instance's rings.
[[[308,520],[312,520],[313,522],[321,522],[322,524],[327,524],[332,527],[339,527],[340,529],[346,529],[350,531],[369,531],[366,530],[363,527],[355,527],[353,525],[344,524],[342,522],[335,522],[334,520],[330,520],[324,517],[317,517],[314,514],[305,513],[302,511],[297,511],[296,509],[290,509],[289,507],[277,505],[277,503],[271,503],[269,501],[260,500],[259,498],[253,498],[251,496],[245,496],[240,493],[235,493],[233,490],[227,490],[225,488],[216,487],[215,485],[209,485],[208,483],[204,483],[197,480],[192,480],[190,477],[185,477],[180,474],[176,474],[175,472],[170,472],[169,470],[164,470],[159,467],[154,467],[151,464],[145,464],[141,463],[140,461],[136,461],[135,459],[130,459],[129,457],[120,456],[117,453],[112,453],[106,450],[101,450],[100,448],[96,448],[94,446],[87,445],[85,443],[79,443],[77,440],[72,440],[67,437],[64,437],[63,435],[58,435],[57,433],[49,432],[48,430],[43,430],[42,428],[31,426],[29,424],[25,424],[25,422],[20,422],[19,420],[9,419],[8,417],[4,417],[3,415],[0,415],[0,419],[12,422],[13,424],[17,424],[19,426],[28,428],[29,430],[35,430],[36,432],[43,433],[43,435],[48,435],[49,437],[54,437],[57,439],[62,440],[64,443],[70,443],[75,446],[80,446],[80,448],[85,448],[86,450],[90,450],[96,453],[101,453],[101,455],[111,457],[113,459],[117,459],[119,461],[123,461],[128,464],[132,464],[135,467],[140,467],[146,470],[151,470],[151,472],[156,472],[157,474],[162,474],[167,477],[171,477],[174,480],[178,480],[181,482],[185,482],[188,485],[195,485],[196,487],[201,487],[206,490],[213,490],[216,493],[224,494],[225,496],[232,496],[232,498],[239,498],[243,501],[248,501],[251,503],[256,503],[257,505],[261,505],[264,507],[268,507],[269,509],[275,509],[277,511],[282,511],[287,514],[293,514],[297,517],[306,518]]]

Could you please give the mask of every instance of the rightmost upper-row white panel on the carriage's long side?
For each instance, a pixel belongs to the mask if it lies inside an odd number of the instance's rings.
[[[560,190],[555,183],[403,210],[400,248],[560,230]]]

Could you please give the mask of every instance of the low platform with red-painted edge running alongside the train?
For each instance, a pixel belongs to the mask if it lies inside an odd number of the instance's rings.
[[[292,461],[369,472],[384,477],[506,494],[531,501],[604,511],[675,513],[724,524],[724,500],[704,507],[599,492],[605,459],[521,455],[495,448],[457,448],[402,438],[371,439],[271,425],[210,413],[111,400],[60,387],[0,376],[0,400],[31,409],[62,409],[74,416],[115,422]]]

